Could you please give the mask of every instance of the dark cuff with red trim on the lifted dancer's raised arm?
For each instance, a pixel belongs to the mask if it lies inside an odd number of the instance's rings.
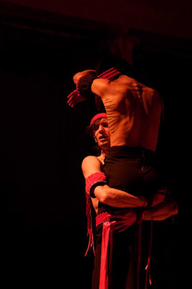
[[[94,94],[91,91],[91,85],[94,81],[94,79],[96,79],[96,72],[91,71],[89,73],[87,73],[86,75],[83,75],[82,77],[80,77],[78,79],[77,82],[77,91],[78,91],[78,95],[82,96],[86,99],[93,97]]]

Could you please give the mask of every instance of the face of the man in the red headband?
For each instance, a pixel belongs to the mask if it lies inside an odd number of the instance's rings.
[[[110,135],[106,118],[98,119],[94,123],[94,140],[101,149],[110,148]]]

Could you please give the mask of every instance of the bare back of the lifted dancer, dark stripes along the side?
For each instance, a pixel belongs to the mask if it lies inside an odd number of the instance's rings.
[[[158,92],[126,75],[112,82],[94,82],[92,91],[101,97],[106,109],[111,146],[139,146],[155,151],[161,117]]]

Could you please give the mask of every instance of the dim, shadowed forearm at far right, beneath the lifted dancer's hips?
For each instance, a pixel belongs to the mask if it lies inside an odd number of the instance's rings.
[[[144,209],[143,220],[162,221],[178,214],[176,202],[164,201],[153,208]]]

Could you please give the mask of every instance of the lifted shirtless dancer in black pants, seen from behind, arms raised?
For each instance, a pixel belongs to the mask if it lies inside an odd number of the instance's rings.
[[[74,75],[77,91],[69,95],[68,104],[76,104],[76,95],[102,99],[110,131],[104,166],[109,186],[151,196],[159,187],[155,168],[162,111],[159,93],[132,78],[134,70],[121,59],[106,58],[99,67],[98,77],[93,70]]]

